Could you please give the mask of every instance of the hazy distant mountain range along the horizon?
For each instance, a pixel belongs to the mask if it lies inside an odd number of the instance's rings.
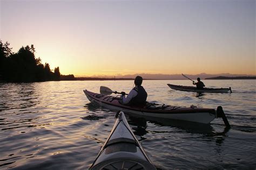
[[[127,74],[127,75],[116,75],[116,79],[134,79],[137,75],[140,75],[143,77],[143,79],[160,79],[160,80],[183,80],[186,79],[183,75],[181,74]],[[190,79],[196,80],[197,77],[200,77],[200,79],[206,79],[209,77],[219,77],[219,76],[224,76],[224,77],[255,77],[256,75],[247,75],[247,74],[230,74],[230,73],[223,73],[223,74],[206,74],[206,73],[201,73],[201,74],[185,74],[187,77],[190,77]],[[99,78],[106,78],[106,79],[113,79],[113,76],[93,76],[93,77],[99,77]]]

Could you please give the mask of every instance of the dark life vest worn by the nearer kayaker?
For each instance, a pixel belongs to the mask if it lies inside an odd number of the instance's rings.
[[[147,100],[146,90],[142,86],[134,87],[133,90],[137,91],[137,96],[133,97],[129,104],[132,105],[143,105]]]

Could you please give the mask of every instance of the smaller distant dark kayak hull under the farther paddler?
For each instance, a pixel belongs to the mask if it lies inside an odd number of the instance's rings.
[[[173,90],[180,90],[180,91],[193,91],[198,93],[228,93],[230,88],[203,88],[197,89],[196,87],[192,86],[178,86],[174,84],[167,84]]]

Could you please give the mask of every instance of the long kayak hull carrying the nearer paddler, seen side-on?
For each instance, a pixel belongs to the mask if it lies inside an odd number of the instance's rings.
[[[120,104],[118,98],[114,96],[100,95],[87,90],[84,90],[84,93],[90,102],[104,108],[114,111],[120,110],[128,114],[135,114],[142,117],[177,119],[204,124],[208,124],[216,118],[214,109],[196,108],[193,106],[190,108],[174,107],[164,104],[159,106],[154,103],[148,103],[144,107],[130,107],[129,105]],[[149,107],[150,105],[157,105],[157,107],[151,108]]]

